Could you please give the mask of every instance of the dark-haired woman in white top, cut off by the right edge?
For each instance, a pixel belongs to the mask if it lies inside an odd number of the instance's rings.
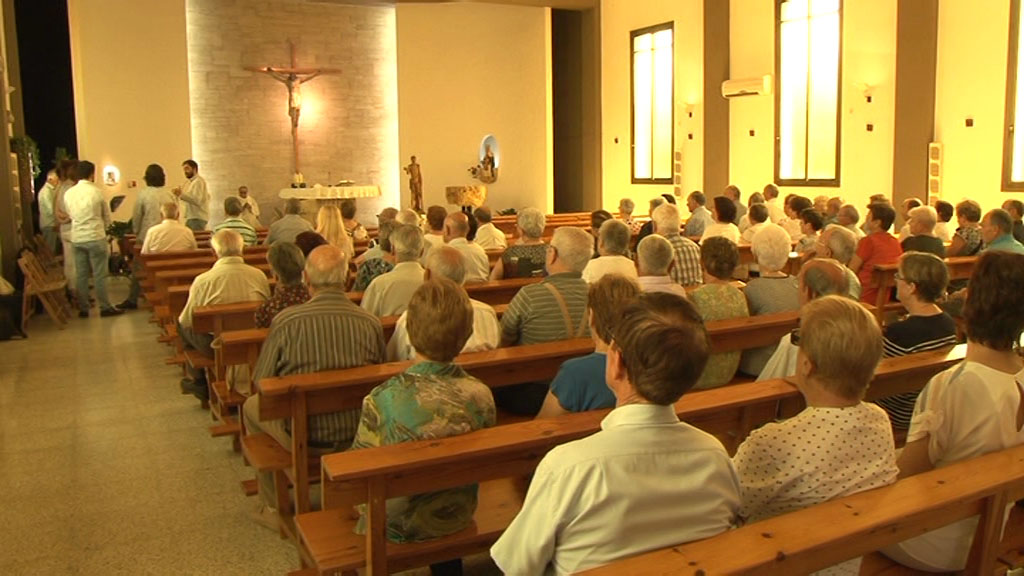
[[[964,305],[967,356],[921,392],[899,456],[900,478],[1024,444],[1022,285],[1024,254],[985,252],[978,259]],[[883,551],[918,570],[959,571],[977,525],[975,517]]]

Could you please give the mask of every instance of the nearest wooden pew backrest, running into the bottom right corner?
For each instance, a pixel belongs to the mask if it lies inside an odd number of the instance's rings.
[[[999,534],[1007,504],[1021,497],[1024,445],[586,574],[808,574],[977,515],[965,573],[995,574],[997,559],[1021,545],[1020,507],[1016,533]]]

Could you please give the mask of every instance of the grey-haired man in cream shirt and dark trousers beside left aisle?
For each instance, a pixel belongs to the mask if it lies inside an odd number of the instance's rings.
[[[263,301],[270,297],[266,275],[242,259],[245,246],[242,236],[232,230],[222,230],[210,239],[217,261],[213,268],[196,277],[188,288],[188,300],[178,316],[178,335],[186,348],[213,358],[213,334],[196,333],[191,329],[193,311],[200,306],[234,302]],[[181,389],[201,400],[208,400],[206,373],[193,370],[191,378],[181,380]]]

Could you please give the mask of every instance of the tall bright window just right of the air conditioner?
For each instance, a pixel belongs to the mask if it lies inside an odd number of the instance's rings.
[[[779,0],[775,179],[839,186],[841,0]]]

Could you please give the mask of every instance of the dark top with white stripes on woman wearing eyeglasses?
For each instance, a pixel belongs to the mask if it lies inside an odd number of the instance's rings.
[[[910,316],[886,327],[883,354],[886,358],[928,352],[956,343],[956,323],[948,314]],[[910,427],[918,394],[910,392],[878,400],[897,428]]]

